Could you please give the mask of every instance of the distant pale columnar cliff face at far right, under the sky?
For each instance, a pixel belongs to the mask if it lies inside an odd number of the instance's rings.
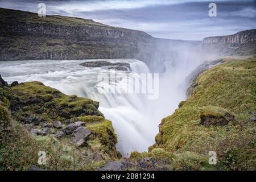
[[[256,41],[256,29],[237,32],[228,36],[210,36],[203,39],[203,43],[238,43],[247,44]]]

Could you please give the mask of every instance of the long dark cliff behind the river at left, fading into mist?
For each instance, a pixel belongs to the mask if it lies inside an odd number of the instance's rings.
[[[9,9],[0,9],[0,15],[0,60],[132,58],[162,72],[159,61],[170,57],[166,47],[200,43],[153,38],[81,18]]]

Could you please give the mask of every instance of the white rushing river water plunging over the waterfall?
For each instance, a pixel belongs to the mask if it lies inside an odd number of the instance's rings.
[[[9,83],[40,81],[65,94],[76,94],[99,101],[99,110],[106,119],[113,122],[118,136],[117,148],[126,156],[134,150],[147,151],[147,148],[154,144],[161,119],[170,115],[179,102],[185,99],[187,85],[182,83],[199,63],[193,63],[191,66],[187,63],[188,60],[182,60],[175,65],[167,65],[167,72],[160,75],[159,98],[156,100],[148,100],[147,94],[99,93],[97,88],[106,83],[98,81],[98,75],[110,74],[112,71],[79,65],[85,60],[0,61],[0,74]],[[135,73],[150,72],[147,65],[139,60],[107,61],[130,63],[132,72]],[[118,72],[127,75],[125,71]],[[126,83],[115,82],[119,90],[123,84]]]

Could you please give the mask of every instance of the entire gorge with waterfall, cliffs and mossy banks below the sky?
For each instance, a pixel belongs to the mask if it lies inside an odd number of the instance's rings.
[[[32,135],[22,141],[29,141],[26,148],[36,148],[35,141],[43,141],[41,147],[55,156],[57,150],[51,151],[51,144],[55,143],[54,149],[62,147],[61,163],[45,168],[72,169],[72,160],[78,169],[90,170],[104,164],[107,168],[109,163],[118,163],[120,169],[253,168],[255,160],[241,162],[241,151],[246,151],[246,158],[254,158],[255,122],[249,113],[255,111],[255,30],[184,41],[81,18],[39,18],[1,8],[0,15],[0,74],[7,81],[0,85],[0,120],[10,122],[14,133]],[[123,86],[133,82],[111,79],[120,92],[100,93],[101,86],[108,84],[98,75],[112,72],[122,77],[158,73],[159,97],[148,100],[148,94],[123,93]],[[11,86],[14,81],[18,84]],[[43,123],[28,122],[35,118]],[[56,121],[61,128],[52,126]],[[81,146],[70,140],[75,132],[65,130],[74,123],[90,131]],[[4,134],[9,133],[6,128]],[[60,131],[61,137],[56,137]],[[6,143],[15,142],[13,138]],[[225,142],[229,144],[224,146]],[[6,143],[2,146],[8,149]],[[209,150],[218,152],[220,166],[205,163]],[[229,154],[236,156],[235,164]],[[31,156],[27,160],[24,155],[26,165],[3,162],[0,167],[28,169],[36,164],[37,154]]]

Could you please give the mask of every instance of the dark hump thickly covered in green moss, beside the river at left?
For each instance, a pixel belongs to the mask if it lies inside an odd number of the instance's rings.
[[[98,110],[98,102],[75,95],[67,96],[38,81],[15,86],[13,92],[18,96],[19,104],[21,102],[23,105],[23,113],[19,112],[19,115],[34,114],[46,121],[65,121],[84,115],[102,115]]]

